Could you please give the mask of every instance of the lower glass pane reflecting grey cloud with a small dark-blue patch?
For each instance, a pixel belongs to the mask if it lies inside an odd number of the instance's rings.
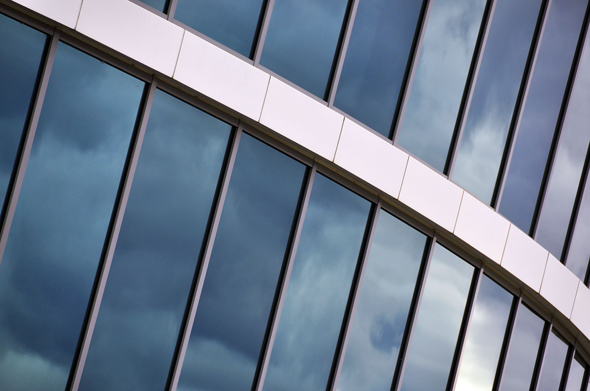
[[[425,240],[391,214],[379,214],[339,390],[391,389]]]

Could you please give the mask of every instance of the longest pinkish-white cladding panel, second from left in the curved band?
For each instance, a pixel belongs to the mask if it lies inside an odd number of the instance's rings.
[[[76,30],[172,76],[184,30],[127,0],[84,0]]]

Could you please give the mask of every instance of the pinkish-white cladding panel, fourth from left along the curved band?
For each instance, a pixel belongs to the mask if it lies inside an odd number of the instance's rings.
[[[271,77],[260,123],[333,161],[344,116]]]

